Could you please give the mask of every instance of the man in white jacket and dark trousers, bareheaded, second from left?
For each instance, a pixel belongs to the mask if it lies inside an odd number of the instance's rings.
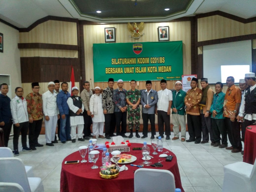
[[[22,151],[32,151],[27,147],[28,133],[28,111],[27,101],[23,97],[23,88],[15,88],[15,98],[11,101],[11,110],[13,116],[13,150],[14,155],[19,155],[18,143],[19,134],[21,132]]]

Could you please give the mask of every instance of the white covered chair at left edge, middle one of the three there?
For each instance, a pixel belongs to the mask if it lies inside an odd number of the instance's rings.
[[[18,183],[26,192],[43,192],[39,177],[27,177],[25,166],[17,157],[0,158],[0,182]]]

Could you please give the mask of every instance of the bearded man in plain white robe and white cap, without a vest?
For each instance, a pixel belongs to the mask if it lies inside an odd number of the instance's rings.
[[[92,117],[92,135],[93,138],[96,138],[96,135],[99,135],[99,138],[104,139],[103,129],[105,116],[102,108],[102,95],[100,94],[100,87],[94,88],[95,94],[90,98],[90,112]]]

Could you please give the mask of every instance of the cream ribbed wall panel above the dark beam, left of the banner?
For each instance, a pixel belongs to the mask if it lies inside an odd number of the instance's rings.
[[[20,33],[20,43],[77,45],[77,23],[48,20]]]

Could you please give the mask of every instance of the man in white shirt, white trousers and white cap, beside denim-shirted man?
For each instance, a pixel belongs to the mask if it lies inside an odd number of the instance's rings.
[[[46,145],[54,146],[53,143],[58,143],[54,141],[56,133],[57,121],[60,118],[59,109],[57,107],[57,94],[54,92],[55,83],[48,83],[48,91],[42,94],[43,100],[43,112],[45,115],[45,138]]]

